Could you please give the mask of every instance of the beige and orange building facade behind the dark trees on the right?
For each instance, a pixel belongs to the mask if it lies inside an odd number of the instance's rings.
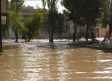
[[[74,33],[74,23],[72,21],[68,22],[69,28],[66,33],[63,33],[59,35],[59,38],[73,38],[73,33]],[[106,32],[109,32],[109,25],[107,25],[106,28],[101,28],[99,26],[91,28],[92,33],[94,34],[94,37],[105,37]],[[90,37],[90,31],[88,31],[89,37]],[[112,35],[111,35],[112,36]],[[86,26],[79,27],[77,26],[77,32],[76,32],[76,37],[81,38],[81,37],[86,37]]]

